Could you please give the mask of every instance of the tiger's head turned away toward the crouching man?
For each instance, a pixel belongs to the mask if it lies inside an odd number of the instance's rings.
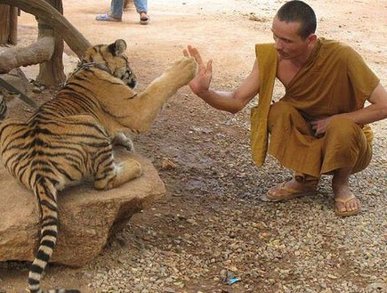
[[[137,80],[125,55],[126,43],[122,39],[109,45],[94,45],[86,50],[82,63],[97,63],[107,67],[110,73],[131,88]]]

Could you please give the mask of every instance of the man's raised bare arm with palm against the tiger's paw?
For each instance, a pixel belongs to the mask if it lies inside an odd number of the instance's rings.
[[[193,56],[198,62],[198,73],[189,83],[194,94],[197,94],[205,102],[218,110],[226,110],[230,113],[236,113],[242,110],[259,92],[259,69],[258,62],[255,60],[254,67],[248,77],[242,82],[235,91],[215,91],[210,88],[212,79],[212,61],[205,65],[198,50],[188,46],[184,50],[185,56]]]

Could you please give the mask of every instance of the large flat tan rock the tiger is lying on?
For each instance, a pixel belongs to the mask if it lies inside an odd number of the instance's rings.
[[[149,160],[130,156],[143,167],[140,178],[110,191],[95,191],[88,183],[60,191],[60,228],[52,262],[85,265],[134,213],[165,195],[164,183]],[[40,232],[36,199],[0,165],[0,261],[32,261]]]

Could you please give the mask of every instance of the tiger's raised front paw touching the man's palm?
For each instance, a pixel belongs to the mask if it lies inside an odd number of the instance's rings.
[[[181,57],[165,70],[171,82],[178,87],[187,85],[195,77],[197,62],[193,57]]]

